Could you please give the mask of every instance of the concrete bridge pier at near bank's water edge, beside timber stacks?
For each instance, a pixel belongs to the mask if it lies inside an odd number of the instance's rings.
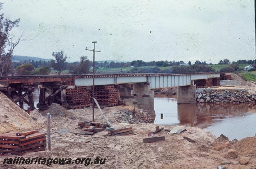
[[[153,119],[155,119],[155,110],[154,110],[154,91],[150,90],[150,85],[147,83],[133,83],[132,94],[145,94],[149,95],[149,97],[140,97],[135,98],[137,101],[138,109],[142,109],[147,112]]]

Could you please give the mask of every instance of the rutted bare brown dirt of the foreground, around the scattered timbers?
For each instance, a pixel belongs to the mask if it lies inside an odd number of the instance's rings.
[[[51,119],[51,151],[39,151],[27,153],[23,158],[106,158],[104,165],[89,165],[89,168],[216,168],[220,163],[228,161],[227,168],[255,168],[256,156],[239,154],[236,159],[225,157],[229,148],[222,151],[213,149],[212,142],[216,139],[209,131],[194,127],[185,127],[187,131],[170,135],[162,130],[155,136],[165,136],[165,141],[155,143],[143,143],[142,138],[147,137],[148,132],[155,130],[156,124],[123,123],[122,113],[132,111],[132,106],[106,107],[103,112],[116,129],[132,127],[136,135],[108,136],[107,131],[95,133],[93,136],[75,135],[80,132],[77,122],[92,119],[92,109],[68,110],[68,116],[52,116]],[[138,110],[136,110],[138,111]],[[49,110],[51,113],[51,110]],[[120,113],[121,112],[121,113]],[[40,132],[46,132],[46,117],[37,110],[31,112],[31,116],[37,118],[41,126]],[[105,123],[98,109],[95,109],[95,120]],[[175,126],[164,126],[172,129]],[[25,129],[24,129],[25,130]],[[183,136],[195,140],[191,143],[183,139]],[[256,137],[255,137],[256,140]],[[241,143],[242,144],[242,143]],[[240,146],[239,146],[240,147]],[[243,150],[242,150],[243,151]],[[240,165],[241,157],[250,156],[248,165]],[[24,168],[85,168],[83,164],[51,166],[29,164],[14,165],[3,164],[5,157],[0,157],[0,168],[24,167]],[[14,158],[9,156],[7,158]]]

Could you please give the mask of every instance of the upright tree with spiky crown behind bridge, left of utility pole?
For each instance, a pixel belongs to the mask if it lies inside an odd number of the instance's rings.
[[[63,50],[60,52],[53,52],[52,56],[55,58],[55,60],[51,60],[51,67],[54,68],[54,70],[57,70],[58,74],[66,68],[66,59],[68,58],[67,55],[64,56]]]

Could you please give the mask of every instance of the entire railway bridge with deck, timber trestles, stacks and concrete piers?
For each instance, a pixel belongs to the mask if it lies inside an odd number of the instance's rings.
[[[96,74],[95,98],[100,105],[114,106],[135,99],[140,109],[154,111],[150,89],[178,87],[178,103],[195,104],[196,85],[220,85],[220,73]],[[0,91],[23,109],[35,109],[33,92],[39,88],[39,110],[53,102],[67,109],[92,104],[92,75],[2,76]]]

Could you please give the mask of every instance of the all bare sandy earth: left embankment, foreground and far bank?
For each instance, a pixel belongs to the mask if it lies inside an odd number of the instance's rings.
[[[239,75],[232,74],[236,85],[232,81],[227,81],[219,89],[247,89],[255,92],[254,83],[243,80]],[[218,89],[214,88],[214,89]],[[57,111],[58,110],[58,111]],[[105,107],[102,109],[105,116],[113,124],[115,129],[132,127],[134,135],[108,136],[107,131],[90,135],[75,135],[80,132],[77,122],[92,120],[92,109],[65,110],[52,106],[49,110],[51,119],[51,151],[39,151],[27,153],[23,158],[106,158],[103,165],[70,164],[51,166],[39,164],[14,165],[3,164],[4,158],[14,158],[15,156],[0,157],[0,168],[217,168],[223,166],[228,169],[256,168],[256,135],[247,137],[239,142],[217,151],[212,144],[216,138],[209,131],[185,127],[186,131],[180,134],[167,134],[162,130],[155,136],[165,136],[165,141],[155,143],[143,143],[143,138],[148,137],[148,132],[155,131],[157,124],[134,123],[125,121],[125,112],[132,112],[132,106]],[[4,94],[0,92],[0,133],[8,131],[28,131],[39,130],[46,133],[47,111],[39,113],[37,110],[31,111],[28,115],[19,106],[12,103]],[[136,109],[136,111],[140,111]],[[105,123],[98,109],[95,109],[95,121]],[[163,126],[165,129],[172,129],[175,126]],[[136,134],[137,133],[137,134]],[[188,142],[183,139],[186,136],[196,141]],[[237,151],[237,158],[226,157],[227,151],[232,148]],[[240,158],[249,158],[246,165],[239,164]],[[228,162],[230,164],[222,164]]]

